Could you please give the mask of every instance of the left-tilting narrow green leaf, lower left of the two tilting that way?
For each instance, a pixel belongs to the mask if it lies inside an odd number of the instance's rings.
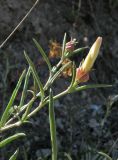
[[[29,56],[27,55],[26,52],[24,52],[24,55],[25,55],[25,58],[26,58],[26,60],[28,61],[30,67],[31,67],[32,73],[33,73],[33,75],[34,75],[34,77],[35,77],[35,79],[36,79],[36,82],[37,82],[37,84],[38,84],[38,87],[39,87],[39,89],[40,89],[40,91],[41,91],[41,97],[44,98],[43,85],[42,85],[42,83],[41,83],[41,81],[40,81],[40,78],[39,78],[37,72],[36,72],[35,66],[34,66],[33,62],[31,61],[31,59],[29,58]]]

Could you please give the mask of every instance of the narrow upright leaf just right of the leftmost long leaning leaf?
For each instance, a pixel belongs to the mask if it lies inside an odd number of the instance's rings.
[[[30,73],[31,73],[31,68],[29,67],[25,77],[24,87],[23,87],[22,96],[21,96],[20,105],[19,105],[20,108],[24,105],[24,100],[27,95],[27,87],[28,87]]]

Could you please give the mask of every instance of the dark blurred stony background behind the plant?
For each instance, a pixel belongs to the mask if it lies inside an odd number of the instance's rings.
[[[34,0],[0,0],[0,44],[28,12]],[[47,54],[50,42],[62,44],[76,38],[77,47],[91,46],[98,36],[103,37],[99,57],[91,73],[90,84],[113,84],[112,88],[91,89],[67,95],[55,101],[57,137],[60,156],[70,153],[74,160],[94,148],[118,158],[118,0],[40,0],[36,8],[0,49],[0,110],[4,110],[22,70],[28,67],[23,51],[34,61],[44,83],[48,70],[37,52],[36,38]],[[88,50],[74,57],[76,65]],[[58,59],[51,59],[55,64]],[[69,85],[70,79],[60,77],[54,83],[55,93]],[[19,101],[20,94],[17,97]],[[106,111],[109,110],[108,116]],[[104,120],[105,118],[105,120]],[[104,123],[102,123],[104,120]],[[19,160],[50,157],[48,110],[44,108],[31,124],[20,127],[27,138],[14,142],[1,152],[1,160],[20,146]],[[103,124],[103,125],[101,125]],[[101,127],[102,126],[102,127]],[[11,132],[17,132],[13,130]],[[24,158],[25,157],[25,158]],[[26,160],[27,160],[26,159]]]

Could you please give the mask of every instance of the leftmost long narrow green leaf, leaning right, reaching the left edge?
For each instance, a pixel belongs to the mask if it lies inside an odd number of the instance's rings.
[[[1,127],[4,126],[5,122],[8,120],[8,118],[9,118],[9,116],[10,116],[9,110],[11,109],[11,107],[12,107],[12,105],[13,105],[13,103],[14,103],[14,100],[15,100],[15,98],[16,98],[16,96],[17,96],[18,90],[19,90],[19,88],[20,88],[20,86],[21,86],[21,83],[22,83],[22,81],[23,81],[23,78],[24,78],[24,76],[25,76],[25,72],[26,72],[26,70],[24,70],[23,73],[21,74],[21,76],[20,76],[20,78],[19,78],[19,81],[18,81],[18,83],[17,83],[17,85],[16,85],[16,88],[14,89],[14,91],[13,91],[13,93],[12,93],[12,96],[11,96],[11,98],[10,98],[10,101],[9,101],[9,103],[8,103],[8,105],[7,105],[4,113],[3,113],[3,115],[2,115],[2,118],[1,118],[1,121],[0,121],[0,126],[1,126]]]

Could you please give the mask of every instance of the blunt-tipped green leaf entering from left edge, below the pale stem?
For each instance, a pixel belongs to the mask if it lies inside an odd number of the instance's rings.
[[[0,148],[6,146],[7,144],[11,143],[12,141],[20,138],[20,137],[24,137],[26,136],[24,133],[17,133],[17,134],[14,134],[13,136],[10,136],[6,139],[4,139],[3,141],[0,142]]]

